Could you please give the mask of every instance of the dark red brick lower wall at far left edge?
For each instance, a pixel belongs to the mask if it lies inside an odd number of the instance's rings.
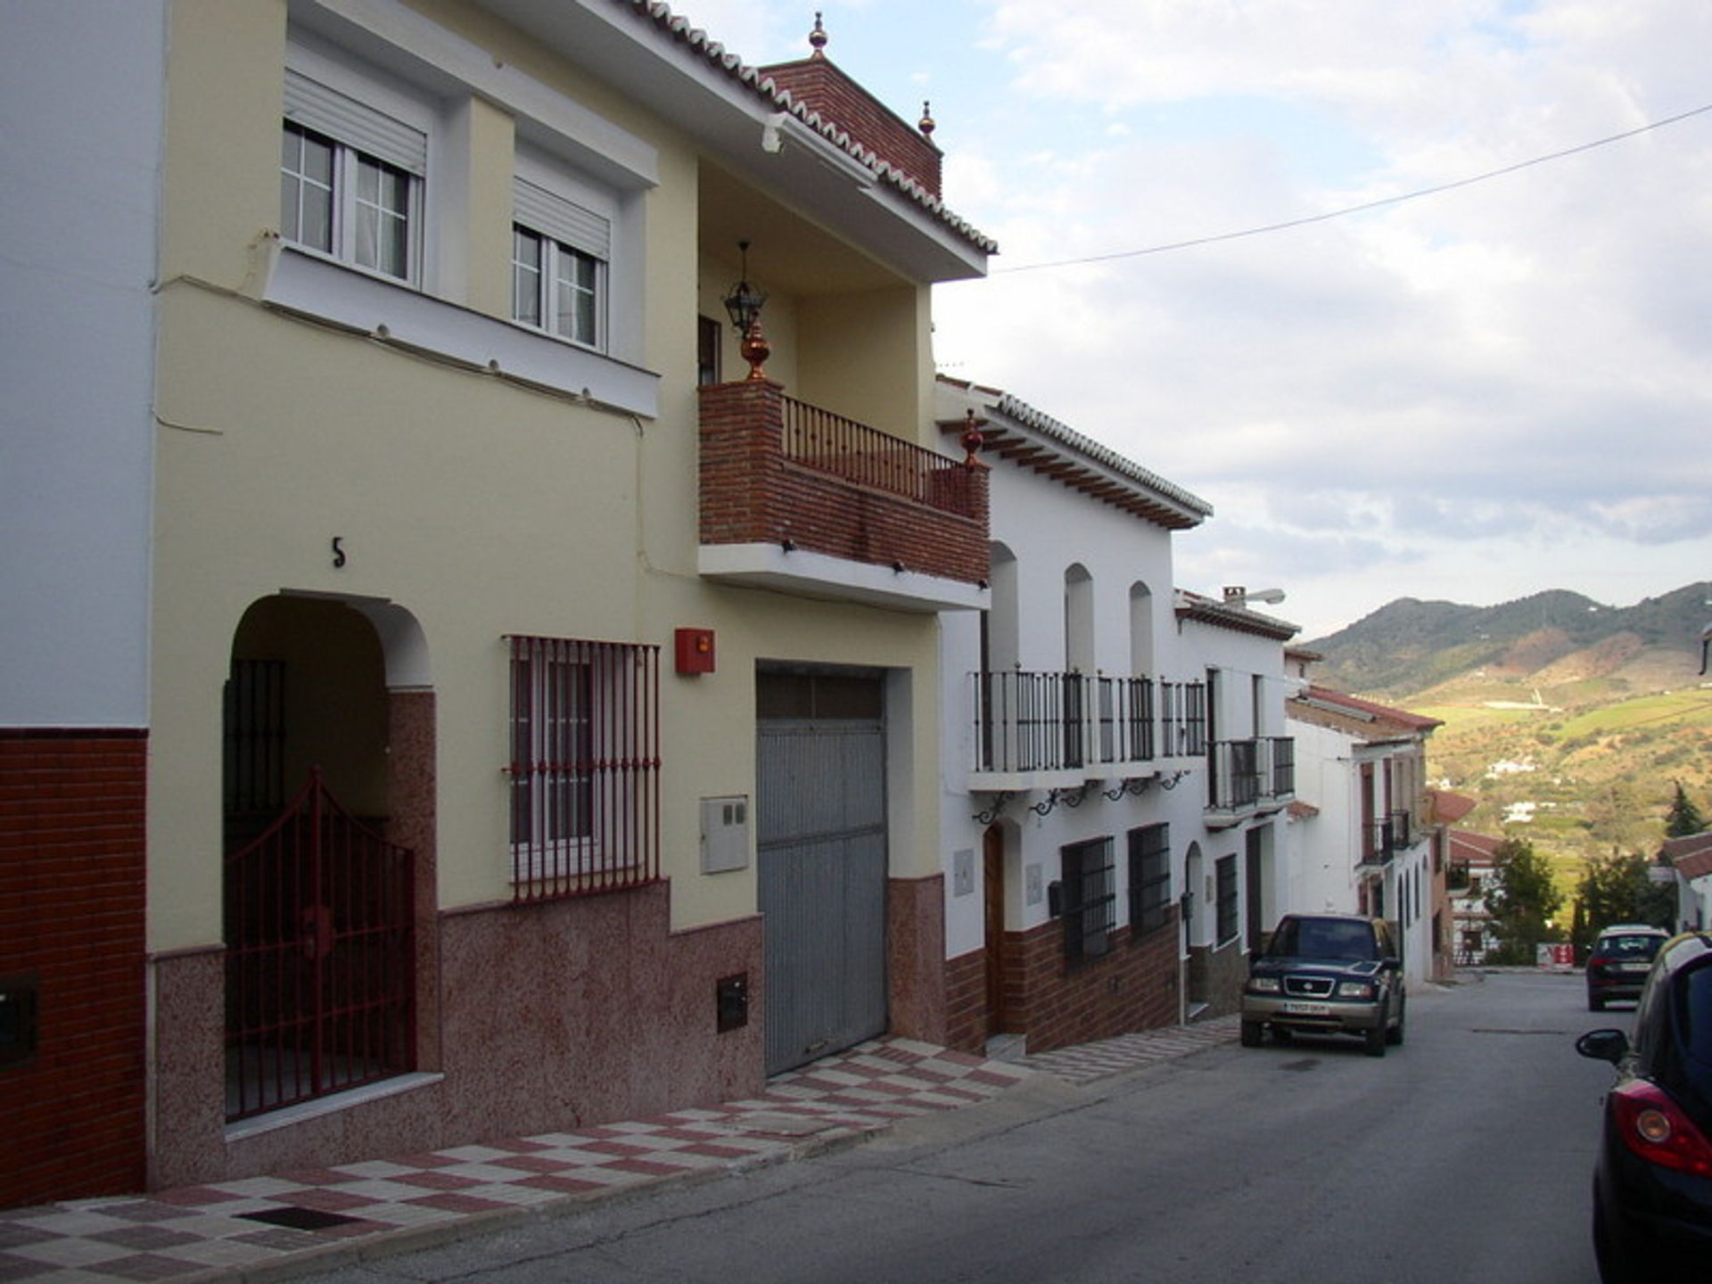
[[[0,729],[0,978],[39,1012],[0,1207],[142,1190],[146,772],[140,731]]]

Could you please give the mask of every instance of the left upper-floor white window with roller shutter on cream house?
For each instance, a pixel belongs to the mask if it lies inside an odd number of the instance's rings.
[[[430,149],[435,113],[421,99],[385,80],[366,65],[332,51],[313,38],[293,33],[286,45],[281,139],[294,130],[332,147],[332,228],[327,247],[281,235],[303,253],[330,259],[414,289],[428,286]],[[404,178],[404,270],[363,262],[360,245],[361,171],[378,166]],[[289,171],[281,161],[281,193]],[[284,211],[281,211],[284,212]],[[284,219],[281,219],[284,223]],[[378,250],[378,243],[377,243]],[[378,259],[378,255],[377,255]]]

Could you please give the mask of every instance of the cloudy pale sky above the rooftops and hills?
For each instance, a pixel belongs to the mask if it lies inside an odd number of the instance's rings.
[[[815,7],[673,5],[752,63]],[[1209,500],[1183,587],[1284,587],[1305,639],[1712,587],[1707,0],[818,7],[1000,243],[942,370]]]

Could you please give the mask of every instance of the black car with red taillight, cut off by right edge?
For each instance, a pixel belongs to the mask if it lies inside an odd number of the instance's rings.
[[[1712,1263],[1712,935],[1669,940],[1623,1031],[1582,1056],[1616,1065],[1594,1166],[1594,1253],[1606,1284],[1703,1284]]]

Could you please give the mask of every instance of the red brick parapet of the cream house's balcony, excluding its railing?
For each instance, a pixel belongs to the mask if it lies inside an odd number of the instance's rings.
[[[990,575],[988,474],[955,469],[969,517],[863,486],[781,455],[784,389],[702,387],[704,544],[782,544],[979,584]]]

